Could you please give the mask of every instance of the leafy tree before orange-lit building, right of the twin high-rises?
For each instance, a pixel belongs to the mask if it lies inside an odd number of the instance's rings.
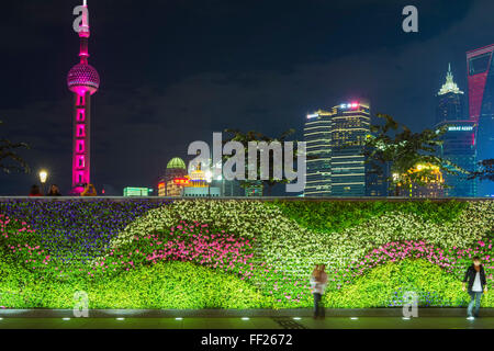
[[[448,131],[448,125],[437,131],[412,133],[408,127],[397,123],[390,115],[377,116],[385,123],[371,126],[372,135],[366,139],[363,154],[371,173],[382,174],[388,165],[391,167],[389,181],[393,184],[396,196],[400,194],[400,186],[411,184],[426,186],[427,183],[435,181],[437,172],[434,171],[434,166],[449,174],[467,173],[459,166],[436,156],[437,147],[444,143],[440,138]],[[433,167],[420,167],[417,171],[418,165]],[[411,171],[413,169],[415,171]]]

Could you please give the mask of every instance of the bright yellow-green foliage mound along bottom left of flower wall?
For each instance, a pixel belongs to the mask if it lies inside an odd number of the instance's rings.
[[[99,282],[31,281],[29,273],[0,264],[0,305],[9,308],[72,308],[74,294],[88,293],[90,308],[259,308],[273,306],[235,275],[183,262],[167,262]],[[16,273],[15,273],[16,272]],[[14,276],[12,276],[12,274]],[[24,282],[20,286],[20,282]]]

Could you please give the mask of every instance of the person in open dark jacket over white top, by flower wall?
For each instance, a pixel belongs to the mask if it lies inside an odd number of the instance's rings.
[[[470,294],[470,304],[468,308],[468,318],[473,319],[479,317],[480,303],[483,293],[487,293],[487,282],[485,280],[485,270],[481,264],[480,257],[473,258],[473,264],[467,269],[463,279],[463,291],[467,288],[467,282],[469,283],[468,292]],[[475,310],[473,312],[473,306]],[[472,314],[473,312],[473,314]]]

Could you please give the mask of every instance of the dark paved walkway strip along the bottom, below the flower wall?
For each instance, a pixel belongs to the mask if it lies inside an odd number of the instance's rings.
[[[494,329],[494,317],[3,318],[0,329]]]

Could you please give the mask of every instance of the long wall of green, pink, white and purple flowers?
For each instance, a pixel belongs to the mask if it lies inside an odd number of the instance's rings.
[[[315,263],[328,307],[464,306],[493,228],[493,201],[3,202],[0,308],[311,307]]]

